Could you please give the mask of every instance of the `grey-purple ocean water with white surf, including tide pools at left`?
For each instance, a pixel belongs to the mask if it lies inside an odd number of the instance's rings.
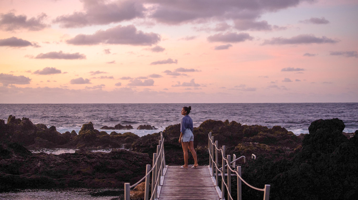
[[[163,131],[169,125],[179,124],[183,106],[192,106],[190,116],[195,127],[203,121],[226,120],[247,125],[271,128],[279,125],[299,135],[308,133],[311,122],[318,119],[339,118],[344,121],[344,132],[358,130],[358,103],[262,103],[262,104],[0,104],[0,119],[5,123],[9,115],[27,117],[34,124],[55,126],[64,133],[75,130],[91,121],[95,129],[102,126],[132,125],[139,136]],[[158,130],[137,130],[139,125],[149,124]],[[104,130],[108,133],[113,130]],[[179,130],[178,130],[179,134]],[[178,135],[179,136],[179,135]],[[60,154],[73,149],[44,150]],[[110,150],[100,150],[109,152]],[[34,151],[38,152],[38,151]],[[15,199],[88,199],[109,200],[123,194],[122,189],[26,189],[0,193],[1,200]]]

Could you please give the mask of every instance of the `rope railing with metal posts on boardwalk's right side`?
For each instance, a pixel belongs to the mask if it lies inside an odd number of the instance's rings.
[[[209,167],[212,169],[212,176],[214,176],[214,165],[215,165],[215,175],[216,175],[216,186],[218,186],[218,172],[221,173],[221,192],[222,192],[222,199],[224,198],[224,193],[225,193],[225,189],[227,190],[228,193],[228,199],[233,200],[232,196],[231,196],[231,172],[233,172],[236,176],[237,176],[237,200],[241,200],[241,181],[244,182],[247,186],[251,187],[252,189],[258,190],[258,191],[263,191],[263,200],[269,200],[269,196],[270,196],[270,185],[266,184],[265,188],[261,189],[261,188],[257,188],[254,187],[250,184],[248,184],[245,180],[243,180],[243,178],[241,177],[241,166],[237,166],[236,169],[232,169],[231,168],[231,164],[233,163],[232,167],[235,168],[235,164],[236,161],[243,158],[244,162],[246,162],[246,157],[245,156],[241,156],[239,158],[236,158],[236,155],[234,154],[234,159],[233,161],[231,161],[231,155],[227,155],[227,157],[225,157],[225,146],[222,146],[220,149],[218,149],[218,141],[216,140],[215,143],[213,142],[214,137],[211,136],[212,133],[209,132],[209,141],[208,141],[208,150],[209,150]],[[213,158],[214,155],[214,149],[215,149],[215,161]],[[218,168],[218,151],[221,152],[221,158],[222,158],[222,167]],[[253,157],[255,157],[256,159],[256,155],[252,154],[252,159]],[[227,183],[225,182],[224,178],[225,178],[225,167],[227,167]]]

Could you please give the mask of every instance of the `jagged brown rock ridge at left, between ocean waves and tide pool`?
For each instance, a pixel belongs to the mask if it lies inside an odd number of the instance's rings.
[[[129,125],[130,126],[130,125]],[[81,130],[65,132],[56,131],[55,126],[47,128],[44,124],[34,125],[28,118],[16,119],[10,115],[8,123],[0,121],[0,139],[18,142],[28,149],[110,149],[129,148],[139,136],[126,132],[108,135],[105,131],[94,129],[92,122],[83,124]]]

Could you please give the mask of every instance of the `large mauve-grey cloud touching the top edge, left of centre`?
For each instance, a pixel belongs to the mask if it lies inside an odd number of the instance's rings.
[[[75,28],[90,25],[118,23],[142,17],[145,8],[139,1],[106,1],[83,0],[84,12],[74,12],[72,15],[58,16],[54,22],[65,28]]]

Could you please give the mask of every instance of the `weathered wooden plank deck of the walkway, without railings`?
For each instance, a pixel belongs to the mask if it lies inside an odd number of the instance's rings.
[[[158,189],[158,200],[221,199],[221,191],[215,186],[208,166],[188,169],[168,166]]]

